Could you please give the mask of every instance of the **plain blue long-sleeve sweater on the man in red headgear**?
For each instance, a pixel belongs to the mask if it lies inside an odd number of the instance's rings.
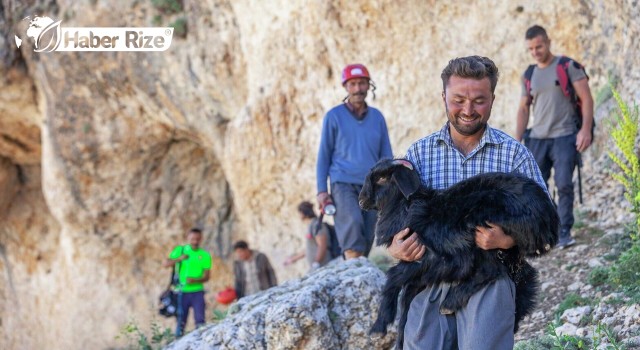
[[[373,107],[358,120],[345,104],[329,110],[322,122],[316,166],[318,193],[331,183],[362,185],[376,162],[392,158],[391,141],[384,116]]]

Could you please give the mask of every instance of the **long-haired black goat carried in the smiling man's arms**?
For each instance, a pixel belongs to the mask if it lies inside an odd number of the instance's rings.
[[[498,278],[508,275],[516,285],[516,322],[535,306],[538,273],[524,259],[547,253],[558,240],[556,208],[535,181],[514,173],[486,173],[444,191],[421,186],[413,164],[404,159],[379,161],[369,172],[359,196],[360,207],[377,209],[377,245],[389,246],[393,236],[409,227],[427,248],[420,263],[399,262],[387,282],[371,333],[386,334],[395,320],[404,288],[398,325],[399,349],[411,300],[423,289],[452,283],[440,305],[452,313]],[[483,250],[475,244],[477,226],[492,223],[514,238],[509,250]]]

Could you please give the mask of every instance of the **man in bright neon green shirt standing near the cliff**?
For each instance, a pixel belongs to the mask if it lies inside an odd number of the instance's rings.
[[[189,308],[193,308],[193,316],[196,328],[204,325],[204,282],[209,280],[211,270],[211,255],[204,249],[200,249],[202,231],[192,228],[187,234],[189,244],[175,247],[169,254],[165,266],[176,266],[179,271],[178,295],[178,324],[176,337],[184,333],[187,323]]]

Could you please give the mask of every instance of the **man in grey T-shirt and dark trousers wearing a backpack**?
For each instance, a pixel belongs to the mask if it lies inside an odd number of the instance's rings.
[[[574,222],[573,170],[578,152],[583,152],[591,145],[593,98],[584,70],[572,60],[568,66],[569,84],[582,102],[582,127],[578,130],[573,102],[564,95],[559,83],[556,67],[560,57],[551,53],[551,40],[547,32],[541,26],[534,25],[527,30],[525,38],[536,66],[530,89],[523,75],[515,136],[518,141],[524,138],[532,110],[534,119],[525,145],[533,153],[545,183],[551,177],[551,169],[554,170],[560,216],[560,240],[557,246],[564,249],[576,243],[571,237]]]

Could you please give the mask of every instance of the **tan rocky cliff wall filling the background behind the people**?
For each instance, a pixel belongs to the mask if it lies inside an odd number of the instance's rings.
[[[177,13],[154,3],[0,5],[2,348],[115,346],[129,319],[155,315],[162,259],[194,225],[214,254],[209,290],[230,283],[235,239],[281,266],[303,243],[295,207],[315,195],[321,120],[344,97],[347,63],[368,66],[378,86],[369,101],[386,115],[397,155],[444,122],[439,74],[456,56],[496,61],[491,124],[512,131],[518,76],[531,61],[523,33],[534,23],[555,53],[587,66],[594,96],[604,96],[599,120],[611,108],[610,74],[623,97],[640,100],[635,0],[175,1]],[[63,27],[184,19],[187,31],[159,53],[35,53],[13,39],[33,15]],[[610,148],[599,125],[587,167]],[[612,182],[604,168],[584,175],[587,198]],[[598,196],[587,202],[594,215],[625,208],[619,191]]]

